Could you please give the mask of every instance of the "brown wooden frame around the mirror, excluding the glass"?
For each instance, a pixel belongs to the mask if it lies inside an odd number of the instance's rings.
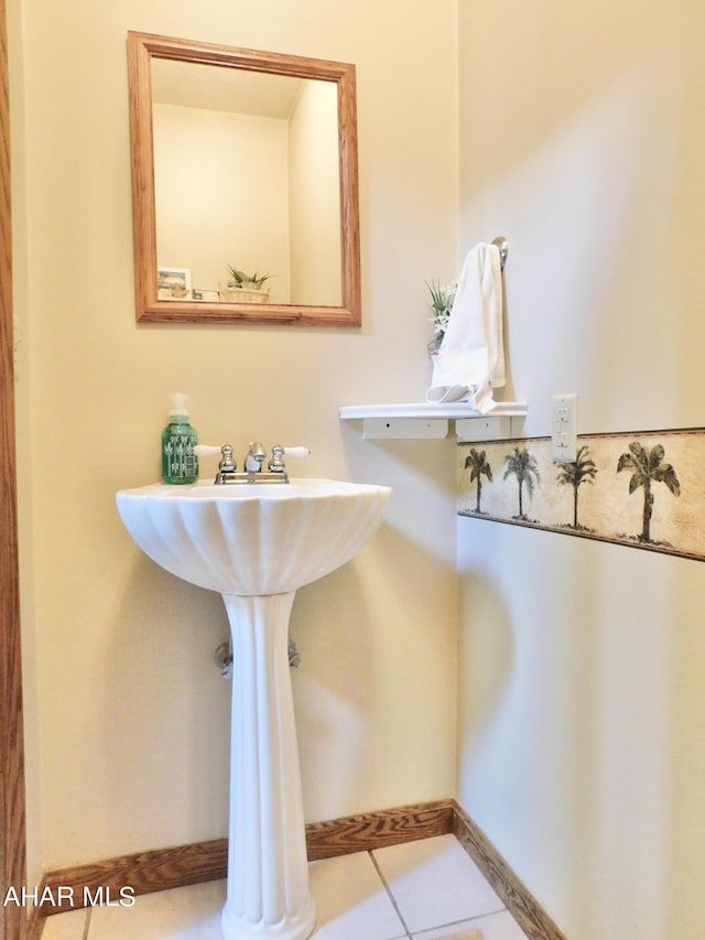
[[[340,306],[245,304],[158,300],[156,209],[152,139],[152,58],[242,68],[249,72],[335,82],[338,90],[340,168]],[[134,290],[138,322],[286,323],[305,326],[359,326],[360,236],[357,179],[357,104],[355,66],[318,58],[254,52],[186,40],[128,33]]]

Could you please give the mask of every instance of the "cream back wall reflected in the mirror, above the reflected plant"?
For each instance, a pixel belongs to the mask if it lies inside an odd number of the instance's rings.
[[[286,121],[228,111],[152,108],[156,263],[188,268],[218,291],[228,267],[272,274],[272,303],[290,303]],[[171,259],[171,260],[170,260]]]

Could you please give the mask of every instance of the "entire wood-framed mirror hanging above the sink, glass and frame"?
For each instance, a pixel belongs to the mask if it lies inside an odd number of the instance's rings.
[[[135,32],[128,64],[137,320],[359,326],[355,66]]]

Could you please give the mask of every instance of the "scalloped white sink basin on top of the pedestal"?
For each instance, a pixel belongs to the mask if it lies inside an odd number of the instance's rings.
[[[339,568],[379,527],[388,487],[153,484],[118,493],[129,533],[152,561],[220,594],[282,594]]]

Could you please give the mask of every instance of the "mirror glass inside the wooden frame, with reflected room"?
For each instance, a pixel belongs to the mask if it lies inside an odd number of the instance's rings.
[[[155,58],[152,125],[160,299],[341,304],[334,83]]]

